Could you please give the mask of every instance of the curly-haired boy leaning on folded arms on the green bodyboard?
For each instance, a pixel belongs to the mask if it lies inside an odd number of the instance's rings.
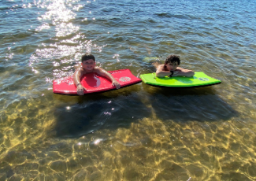
[[[180,65],[180,56],[171,54],[169,55],[164,65],[158,65],[156,76],[165,77],[165,76],[194,76],[195,72],[187,70],[184,68],[178,67]]]

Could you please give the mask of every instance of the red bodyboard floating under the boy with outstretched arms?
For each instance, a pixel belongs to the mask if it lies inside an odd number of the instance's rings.
[[[141,79],[132,75],[129,69],[109,71],[109,73],[117,79],[121,87],[127,87],[135,83],[140,83]],[[81,78],[81,83],[86,90],[84,94],[101,92],[116,89],[109,79],[99,76],[97,73],[87,73]],[[61,79],[55,79],[53,83],[54,93],[57,94],[77,94],[76,85],[72,76],[66,76]]]

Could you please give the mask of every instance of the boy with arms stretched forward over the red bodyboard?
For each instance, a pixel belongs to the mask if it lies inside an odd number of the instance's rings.
[[[73,76],[74,83],[76,84],[77,94],[83,95],[83,90],[86,90],[80,83],[80,79],[84,74],[87,74],[89,72],[95,72],[98,73],[98,75],[100,76],[105,76],[112,81],[113,86],[117,87],[117,89],[120,88],[120,83],[118,83],[117,80],[113,78],[113,76],[109,72],[106,72],[106,70],[96,66],[95,64],[95,56],[93,56],[92,54],[84,54],[82,56],[82,66],[76,69],[76,72]]]

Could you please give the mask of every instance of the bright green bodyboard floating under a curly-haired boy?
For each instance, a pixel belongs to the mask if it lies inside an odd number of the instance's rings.
[[[221,80],[207,76],[204,72],[195,72],[194,76],[156,77],[154,73],[142,74],[140,78],[144,83],[152,86],[164,87],[204,87],[221,83]]]

